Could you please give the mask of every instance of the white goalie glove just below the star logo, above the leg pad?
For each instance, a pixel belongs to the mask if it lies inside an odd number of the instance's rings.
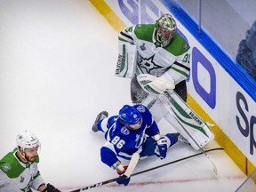
[[[163,76],[151,76],[149,74],[140,74],[137,80],[144,91],[153,94],[164,94],[167,90],[175,88],[174,80],[167,73]]]

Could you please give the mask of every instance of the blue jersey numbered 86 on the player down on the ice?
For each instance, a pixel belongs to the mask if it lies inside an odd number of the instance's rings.
[[[111,167],[119,159],[130,159],[132,154],[139,154],[143,151],[143,144],[147,137],[156,135],[159,129],[156,125],[148,108],[143,105],[135,105],[141,115],[140,129],[132,131],[121,123],[119,116],[111,116],[108,118],[108,131],[105,132],[107,142],[100,149],[101,161]]]

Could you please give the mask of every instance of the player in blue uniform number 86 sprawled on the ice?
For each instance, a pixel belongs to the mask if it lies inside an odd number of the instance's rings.
[[[118,116],[108,117],[107,111],[102,111],[92,125],[93,132],[104,132],[107,142],[100,149],[101,161],[124,174],[127,166],[123,166],[120,157],[131,159],[133,153],[139,153],[140,158],[158,156],[164,159],[167,148],[174,145],[180,133],[161,135],[158,126],[148,108],[143,105],[124,105]],[[182,140],[184,138],[180,138]],[[118,184],[128,185],[130,178],[117,180]]]

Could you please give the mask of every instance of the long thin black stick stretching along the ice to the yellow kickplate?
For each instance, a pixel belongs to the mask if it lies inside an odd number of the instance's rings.
[[[224,150],[224,148],[211,148],[211,149],[205,150],[204,152],[211,152],[211,151],[216,151],[216,150]],[[202,151],[202,152],[200,152],[200,153],[196,153],[196,154],[191,155],[191,156],[185,156],[185,157],[182,157],[182,158],[180,158],[180,159],[176,159],[176,160],[171,161],[171,162],[169,162],[169,163],[161,164],[161,165],[158,165],[158,166],[149,168],[149,169],[144,170],[144,171],[141,171],[141,172],[135,172],[135,173],[130,172],[130,173],[132,173],[132,174],[129,175],[129,177],[132,177],[132,176],[135,176],[135,175],[139,175],[139,174],[142,174],[142,173],[144,173],[144,172],[150,172],[150,171],[156,170],[156,169],[158,169],[158,168],[167,166],[167,165],[169,165],[169,164],[175,164],[175,163],[178,163],[178,162],[187,160],[187,159],[189,159],[189,158],[193,158],[193,157],[195,157],[195,156],[200,156],[200,155],[204,154],[204,152]],[[138,159],[138,160],[139,160],[139,159]],[[132,161],[132,160],[131,160],[131,161]],[[138,162],[137,162],[137,163],[138,163]],[[136,164],[137,164],[137,163],[136,163]],[[130,164],[131,164],[131,163],[130,163]],[[129,164],[129,166],[130,166],[130,164]],[[135,164],[135,166],[136,166],[136,164]],[[131,165],[132,165],[132,164],[131,164]],[[128,168],[129,168],[129,166],[128,166]],[[135,166],[134,166],[134,168],[135,168]],[[133,169],[134,169],[134,168],[133,168]],[[127,170],[128,170],[128,169],[127,169]],[[126,172],[127,172],[127,170],[126,170]],[[132,171],[133,171],[133,170],[132,170]],[[92,184],[92,185],[87,186],[87,187],[84,187],[84,188],[78,188],[78,189],[76,189],[76,190],[72,190],[72,191],[69,191],[69,192],[81,192],[81,191],[84,191],[84,190],[87,190],[87,189],[90,189],[90,188],[98,188],[98,187],[100,187],[100,186],[102,186],[102,185],[106,185],[106,184],[115,182],[116,180],[123,180],[123,179],[125,179],[125,178],[127,178],[127,177],[126,177],[125,175],[123,175],[123,176],[118,177],[118,178],[114,178],[114,179],[111,179],[111,180],[105,180],[105,181],[102,181],[102,182],[99,182],[99,183],[96,183],[96,184]]]

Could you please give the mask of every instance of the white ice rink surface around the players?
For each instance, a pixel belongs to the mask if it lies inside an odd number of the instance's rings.
[[[105,140],[91,127],[101,110],[131,104],[129,79],[115,76],[117,32],[86,0],[0,0],[0,157],[30,130],[42,143],[39,169],[62,191],[117,174],[100,162]],[[173,132],[164,120],[162,133]],[[219,147],[213,140],[207,148]],[[200,152],[200,151],[199,151]],[[198,153],[185,144],[164,160],[148,157],[134,172]],[[231,192],[245,180],[224,151],[214,151],[91,191]],[[212,171],[212,163],[219,174]],[[123,161],[123,164],[127,162]]]

